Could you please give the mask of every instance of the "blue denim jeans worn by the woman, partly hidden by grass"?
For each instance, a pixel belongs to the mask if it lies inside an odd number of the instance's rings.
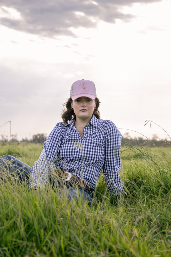
[[[21,182],[29,181],[31,167],[11,155],[3,155],[0,157],[0,171],[4,170],[7,170],[13,175],[15,174]],[[72,198],[78,199],[82,197],[83,200],[92,201],[93,194],[89,190],[80,186],[75,188],[71,185],[66,186],[66,188],[68,199],[71,200]],[[59,194],[62,194],[62,191],[60,191]]]

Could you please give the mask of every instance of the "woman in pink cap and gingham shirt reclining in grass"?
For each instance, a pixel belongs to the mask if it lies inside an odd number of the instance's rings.
[[[123,192],[119,175],[122,135],[113,122],[100,119],[99,103],[92,81],[82,79],[72,84],[63,122],[57,123],[46,138],[44,149],[31,169],[30,188],[41,188],[53,171],[66,181],[69,198],[77,198],[79,193],[91,201],[103,170],[109,191]],[[26,164],[23,169],[28,171]]]

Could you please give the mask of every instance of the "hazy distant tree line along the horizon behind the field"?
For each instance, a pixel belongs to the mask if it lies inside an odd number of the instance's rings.
[[[30,139],[28,139],[26,137],[26,138],[22,138],[22,140],[19,141],[17,139],[17,134],[12,134],[10,142],[26,142],[26,143],[43,144],[46,138],[47,138],[47,134],[38,133],[38,134],[33,135],[32,138],[30,138]],[[0,142],[9,142],[8,136],[1,135]],[[146,145],[149,147],[152,147],[154,145],[161,146],[161,147],[171,146],[171,140],[170,140],[170,138],[169,138],[169,140],[168,139],[164,139],[164,140],[159,139],[156,134],[154,134],[152,136],[152,139],[145,139],[143,137],[131,138],[129,133],[125,133],[123,135],[123,139],[121,141],[121,146],[131,147],[131,146],[143,146],[143,145]]]

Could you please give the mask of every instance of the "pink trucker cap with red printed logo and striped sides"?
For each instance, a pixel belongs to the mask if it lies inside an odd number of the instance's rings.
[[[95,99],[96,89],[93,81],[82,79],[72,84],[70,92],[71,99],[75,100],[82,96]]]

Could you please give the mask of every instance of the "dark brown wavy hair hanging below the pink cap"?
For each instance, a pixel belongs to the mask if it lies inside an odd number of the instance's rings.
[[[98,110],[99,105],[100,105],[100,101],[97,97],[95,98],[94,101],[96,102],[96,109],[94,109],[93,115],[95,115],[95,117],[97,119],[100,119],[100,112]],[[74,110],[71,109],[71,103],[72,103],[72,99],[70,97],[68,99],[68,101],[63,104],[64,110],[63,110],[63,113],[62,113],[62,119],[63,119],[64,123],[68,123],[73,117],[76,120],[76,115],[74,113]]]

